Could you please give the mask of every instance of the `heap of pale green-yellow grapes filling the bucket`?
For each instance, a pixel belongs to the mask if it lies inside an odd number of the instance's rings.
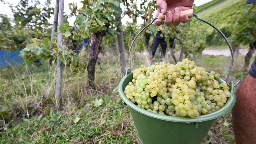
[[[153,113],[169,116],[200,116],[222,108],[231,96],[220,74],[184,59],[176,65],[160,62],[133,71],[124,94],[132,103]]]

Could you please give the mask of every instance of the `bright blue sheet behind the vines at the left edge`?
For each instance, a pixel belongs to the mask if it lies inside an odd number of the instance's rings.
[[[8,67],[10,63],[12,66],[18,66],[22,62],[22,58],[19,57],[20,50],[6,51],[0,49],[0,68]]]

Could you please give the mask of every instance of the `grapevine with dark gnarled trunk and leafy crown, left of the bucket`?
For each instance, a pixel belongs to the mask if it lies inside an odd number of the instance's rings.
[[[75,23],[77,32],[74,32],[76,39],[89,38],[87,65],[87,87],[94,89],[95,66],[99,52],[102,51],[101,41],[106,33],[115,28],[115,17],[120,14],[120,2],[117,0],[84,0],[81,9],[73,5],[72,12],[78,13]]]

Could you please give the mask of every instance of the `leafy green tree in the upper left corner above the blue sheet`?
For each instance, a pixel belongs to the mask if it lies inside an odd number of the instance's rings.
[[[8,50],[22,50],[33,38],[49,37],[51,24],[48,19],[53,13],[50,4],[50,0],[44,4],[39,0],[34,0],[31,4],[27,0],[20,0],[15,7],[9,5],[14,19],[0,15],[0,46],[7,46]]]

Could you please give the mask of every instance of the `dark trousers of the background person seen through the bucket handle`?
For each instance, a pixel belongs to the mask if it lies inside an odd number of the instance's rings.
[[[158,45],[160,44],[162,52],[161,52],[161,56],[164,58],[165,53],[166,53],[166,47],[167,47],[167,43],[165,42],[164,39],[159,39],[159,38],[155,38],[153,39],[153,43],[152,43],[152,57],[151,59],[153,59],[153,57],[156,54],[156,49],[158,47]]]

